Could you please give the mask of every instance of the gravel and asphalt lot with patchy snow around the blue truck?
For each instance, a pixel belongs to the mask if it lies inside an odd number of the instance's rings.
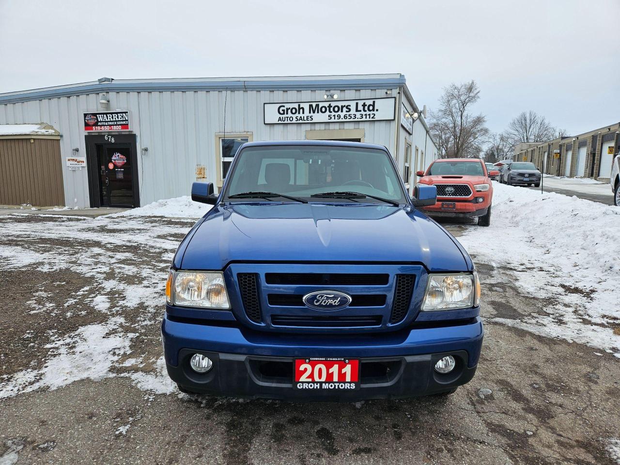
[[[159,322],[167,267],[193,221],[0,217],[0,463],[615,463],[620,360],[603,335],[620,335],[619,321],[583,311],[582,329],[566,324],[558,309],[590,291],[533,296],[518,277],[529,263],[471,250],[482,234],[472,224],[446,227],[476,262],[487,334],[476,376],[453,396],[290,404],[180,394],[162,373]],[[569,342],[535,329],[534,312],[575,334],[609,331]]]

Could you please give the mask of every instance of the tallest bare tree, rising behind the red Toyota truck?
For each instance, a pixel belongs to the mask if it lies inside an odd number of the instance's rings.
[[[428,125],[439,144],[441,158],[480,156],[489,130],[484,115],[470,113],[479,99],[480,89],[473,80],[443,89],[439,108],[431,112]]]

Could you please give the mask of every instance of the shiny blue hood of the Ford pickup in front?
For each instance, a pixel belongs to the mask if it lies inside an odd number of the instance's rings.
[[[274,261],[415,262],[432,272],[471,268],[456,240],[435,221],[390,205],[216,206],[187,239],[177,252],[186,270]]]

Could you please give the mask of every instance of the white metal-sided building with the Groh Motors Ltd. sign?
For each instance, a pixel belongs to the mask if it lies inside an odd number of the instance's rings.
[[[48,184],[61,186],[64,205],[79,208],[135,207],[188,195],[195,180],[221,187],[245,141],[381,144],[411,191],[415,170],[438,154],[402,74],[102,78],[0,94],[0,139],[29,140],[17,135],[18,125],[49,128],[58,151],[38,154],[45,162],[32,163],[8,153],[4,147],[14,144],[5,143],[0,162],[19,162],[16,177],[60,178]],[[15,184],[22,185],[19,200],[0,193],[0,204],[63,205],[58,195],[34,195],[20,179]]]

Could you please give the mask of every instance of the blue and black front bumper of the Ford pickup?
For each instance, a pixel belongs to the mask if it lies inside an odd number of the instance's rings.
[[[420,327],[394,334],[287,335],[247,332],[171,321],[164,317],[162,339],[170,378],[188,391],[217,396],[288,401],[343,401],[426,396],[465,384],[476,373],[484,330],[479,317],[453,326]],[[189,366],[193,353],[213,360],[205,374]],[[453,355],[452,373],[433,370]],[[295,389],[293,359],[360,358],[355,391]]]

